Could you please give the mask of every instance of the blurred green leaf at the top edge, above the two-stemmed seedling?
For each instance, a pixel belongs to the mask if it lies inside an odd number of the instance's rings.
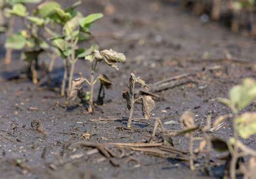
[[[54,1],[44,2],[37,6],[36,13],[41,17],[49,17],[52,13],[56,12],[55,8],[60,8],[60,4]]]

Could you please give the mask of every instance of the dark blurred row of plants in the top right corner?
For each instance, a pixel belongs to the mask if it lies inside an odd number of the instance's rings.
[[[255,0],[163,0],[181,5],[199,16],[203,23],[210,20],[230,27],[242,35],[256,35]]]

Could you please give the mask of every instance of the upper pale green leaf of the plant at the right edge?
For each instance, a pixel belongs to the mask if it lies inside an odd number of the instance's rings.
[[[241,85],[235,85],[230,90],[229,96],[236,108],[244,109],[256,98],[256,82],[251,78],[246,78]]]

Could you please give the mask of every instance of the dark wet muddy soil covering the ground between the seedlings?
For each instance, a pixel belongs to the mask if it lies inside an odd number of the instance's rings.
[[[64,2],[64,1],[62,1]],[[196,114],[198,125],[206,124],[207,114],[213,121],[230,112],[214,101],[217,97],[227,97],[228,89],[245,77],[256,78],[256,43],[252,38],[232,34],[224,27],[214,23],[201,23],[200,19],[181,10],[178,6],[144,0],[109,1],[111,15],[95,23],[92,37],[85,44],[97,42],[102,49],[112,48],[123,52],[127,60],[115,71],[100,64],[97,74],[104,73],[114,82],[106,90],[105,104],[98,106],[95,115],[87,113],[78,101],[65,108],[64,98],[58,91],[48,90],[45,85],[33,85],[29,80],[6,81],[24,71],[24,63],[15,52],[11,65],[1,60],[0,85],[0,178],[219,178],[222,175],[224,161],[222,155],[212,152],[211,175],[206,177],[201,168],[203,156],[196,160],[196,171],[190,171],[189,163],[134,152],[132,157],[139,161],[122,163],[114,167],[101,154],[87,155],[92,148],[76,146],[78,141],[87,141],[80,136],[90,133],[92,142],[136,142],[149,139],[153,131],[154,120],[146,123],[133,123],[139,130],[119,130],[126,121],[91,122],[89,119],[128,117],[122,91],[130,73],[142,77],[147,83],[155,83],[168,77],[192,73],[190,81],[179,83],[173,88],[156,92],[154,117],[172,116],[176,124],[164,124],[166,131],[181,129],[179,118],[186,110]],[[65,6],[71,4],[65,1]],[[79,10],[87,13],[106,12],[106,1],[83,1]],[[1,58],[3,57],[4,37],[1,36]],[[226,56],[232,59],[223,60]],[[42,59],[49,59],[42,56]],[[80,60],[76,63],[78,72],[89,77],[89,63]],[[216,68],[214,68],[216,67]],[[58,59],[53,71],[53,86],[59,86],[63,73],[62,60]],[[96,85],[96,94],[99,84]],[[89,87],[84,87],[89,90]],[[30,107],[38,110],[31,110]],[[245,111],[255,111],[256,103]],[[134,118],[143,117],[141,106],[136,104]],[[41,120],[44,136],[31,127],[32,120]],[[226,123],[219,131],[212,133],[224,139],[231,135],[231,126]],[[199,133],[200,135],[200,133]],[[255,136],[245,141],[247,146],[256,148]],[[188,148],[188,139],[173,138],[174,146]],[[196,146],[195,146],[196,147]],[[17,161],[25,163],[18,166]]]

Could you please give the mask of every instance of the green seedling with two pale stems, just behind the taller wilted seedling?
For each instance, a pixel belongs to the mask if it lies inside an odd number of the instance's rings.
[[[77,4],[73,5],[76,6]],[[62,10],[55,8],[57,18],[52,16],[52,19],[63,26],[63,32],[55,34],[52,37],[52,45],[57,47],[58,54],[63,58],[64,74],[60,95],[65,95],[65,83],[69,74],[67,98],[70,99],[71,85],[73,80],[73,73],[75,70],[75,63],[79,58],[84,58],[87,49],[79,48],[79,41],[85,40],[85,34],[90,34],[89,26],[96,20],[103,17],[102,13],[93,13],[89,16],[83,17],[80,12],[69,12],[70,10]],[[73,15],[76,13],[76,15]],[[46,15],[44,15],[46,16]],[[70,66],[70,71],[68,71]]]

